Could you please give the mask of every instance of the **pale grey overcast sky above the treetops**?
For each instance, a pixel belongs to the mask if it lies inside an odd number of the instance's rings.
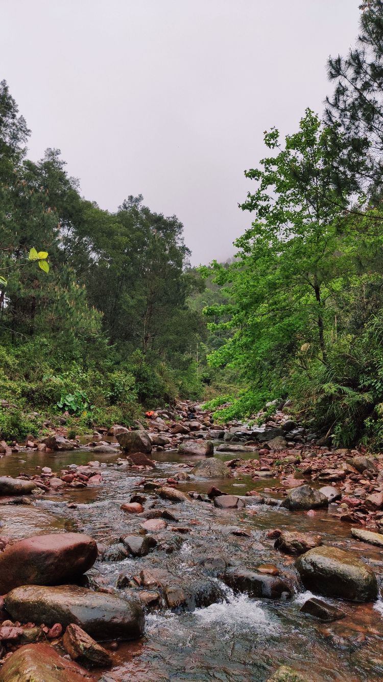
[[[331,93],[361,0],[0,0],[0,79],[82,193],[129,194],[184,223],[193,264],[231,256],[263,131]]]

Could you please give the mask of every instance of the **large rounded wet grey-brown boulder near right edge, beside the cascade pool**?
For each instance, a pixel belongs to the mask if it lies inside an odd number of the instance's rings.
[[[316,547],[295,561],[303,585],[325,597],[350,602],[372,602],[378,597],[373,570],[351,552],[336,547]]]

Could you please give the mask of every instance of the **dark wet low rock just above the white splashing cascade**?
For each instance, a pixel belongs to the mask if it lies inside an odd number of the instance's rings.
[[[291,596],[291,589],[284,580],[244,568],[228,568],[220,578],[235,592],[246,592],[249,597],[281,599]]]

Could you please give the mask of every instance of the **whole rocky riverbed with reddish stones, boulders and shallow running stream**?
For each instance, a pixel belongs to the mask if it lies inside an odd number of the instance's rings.
[[[3,452],[0,681],[382,679],[380,458],[283,413],[145,426]]]

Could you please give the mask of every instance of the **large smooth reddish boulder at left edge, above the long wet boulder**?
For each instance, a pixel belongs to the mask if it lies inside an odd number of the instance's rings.
[[[93,566],[97,544],[81,533],[35,535],[0,552],[0,594],[20,585],[56,585],[76,580]]]

